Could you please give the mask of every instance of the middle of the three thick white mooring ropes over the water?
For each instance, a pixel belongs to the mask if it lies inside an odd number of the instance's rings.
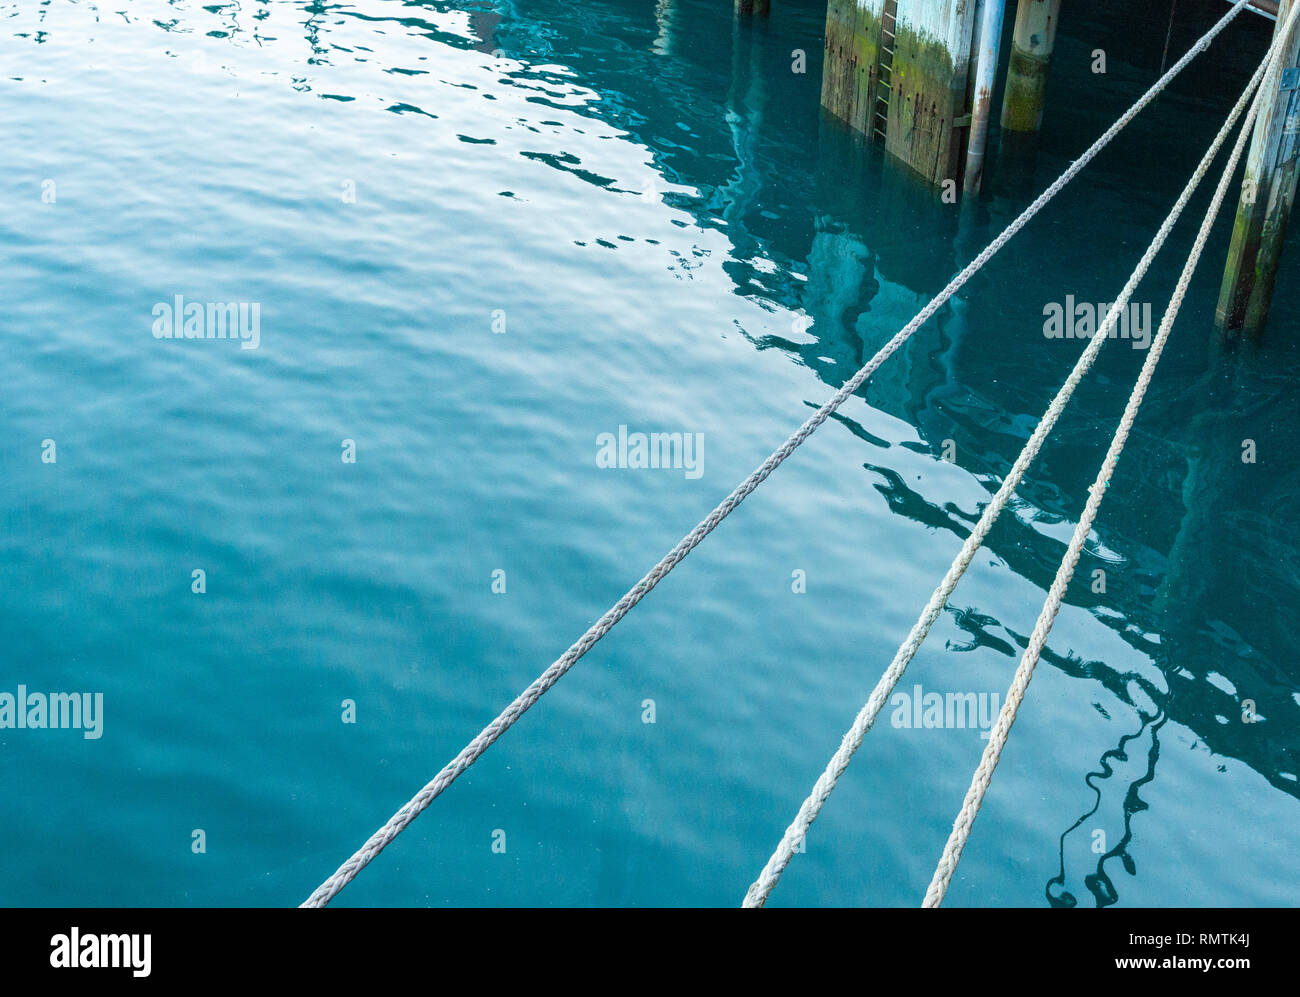
[[[814,784],[812,790],[809,793],[807,799],[803,801],[798,814],[794,816],[794,820],[785,829],[781,842],[776,846],[776,850],[767,861],[763,871],[759,872],[758,879],[750,885],[749,892],[745,894],[742,906],[763,906],[780,880],[781,874],[785,871],[785,867],[800,850],[800,844],[807,835],[812,822],[816,820],[818,815],[822,812],[822,807],[835,790],[836,784],[840,781],[840,776],[842,776],[845,770],[849,767],[849,762],[853,760],[853,755],[862,746],[867,732],[875,725],[876,718],[880,715],[880,711],[885,707],[885,703],[889,699],[889,694],[894,690],[898,680],[902,679],[904,672],[911,663],[911,659],[916,655],[922,642],[924,642],[927,634],[930,633],[930,628],[935,624],[935,620],[939,619],[944,606],[948,603],[948,598],[957,588],[957,582],[961,581],[962,576],[966,573],[966,569],[970,567],[971,560],[975,558],[980,545],[993,528],[997,517],[1002,513],[1002,510],[1015,494],[1015,489],[1019,487],[1030,464],[1032,464],[1035,458],[1037,458],[1044,441],[1052,433],[1052,429],[1056,426],[1057,420],[1069,404],[1070,398],[1079,386],[1079,382],[1092,368],[1092,363],[1096,360],[1097,354],[1101,352],[1101,347],[1105,344],[1119,317],[1128,308],[1128,302],[1132,298],[1134,291],[1147,276],[1147,270],[1150,268],[1152,261],[1164,247],[1170,231],[1173,231],[1174,225],[1178,222],[1183,209],[1187,207],[1187,203],[1192,199],[1192,194],[1205,178],[1205,174],[1209,172],[1209,168],[1218,156],[1223,143],[1227,142],[1227,136],[1231,134],[1232,126],[1242,116],[1242,112],[1245,109],[1245,105],[1251,99],[1251,94],[1254,92],[1254,88],[1260,83],[1260,78],[1264,75],[1264,68],[1265,64],[1261,62],[1251,82],[1247,84],[1247,88],[1243,91],[1232,110],[1228,113],[1227,120],[1223,122],[1223,127],[1219,129],[1214,140],[1210,143],[1210,147],[1201,157],[1196,172],[1192,174],[1191,179],[1187,181],[1187,186],[1183,187],[1183,192],[1178,196],[1178,200],[1169,212],[1169,216],[1161,224],[1160,230],[1150,240],[1150,244],[1147,247],[1143,257],[1138,261],[1138,266],[1128,277],[1128,281],[1124,283],[1124,287],[1115,299],[1115,303],[1110,305],[1110,309],[1106,312],[1105,321],[1097,329],[1092,342],[1088,343],[1087,348],[1079,356],[1074,369],[1070,372],[1070,376],[1065,380],[1065,383],[1061,385],[1061,390],[1057,391],[1056,398],[1052,399],[1052,404],[1048,406],[1048,409],[1043,413],[1043,419],[1039,421],[1034,434],[1024,445],[1020,455],[1015,459],[1015,464],[1002,481],[1002,486],[984,508],[979,523],[975,524],[975,528],[971,530],[970,537],[967,537],[966,543],[962,545],[962,549],[953,559],[948,573],[939,584],[939,588],[936,588],[933,594],[930,597],[930,602],[926,603],[926,608],[922,610],[920,616],[916,617],[916,623],[907,633],[906,640],[904,640],[904,642],[898,646],[898,651],[894,654],[889,667],[880,676],[880,680],[876,682],[875,689],[872,689],[866,705],[863,705],[857,718],[854,718],[853,725],[844,734],[838,750],[831,757],[826,770],[822,772],[820,777]]]

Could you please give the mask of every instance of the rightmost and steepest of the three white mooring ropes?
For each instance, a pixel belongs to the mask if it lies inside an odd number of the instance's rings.
[[[1196,242],[1192,246],[1191,255],[1187,257],[1187,263],[1183,265],[1183,273],[1179,276],[1178,285],[1174,287],[1174,294],[1169,300],[1169,308],[1165,311],[1165,317],[1160,324],[1160,331],[1152,341],[1150,350],[1147,354],[1147,360],[1141,367],[1141,373],[1138,374],[1138,382],[1134,385],[1132,394],[1128,396],[1128,404],[1124,406],[1124,413],[1119,420],[1119,426],[1115,429],[1114,438],[1110,441],[1110,448],[1106,451],[1106,458],[1101,463],[1101,469],[1097,472],[1096,481],[1093,481],[1092,486],[1088,489],[1089,494],[1087,506],[1083,510],[1083,515],[1079,517],[1079,524],[1075,526],[1074,536],[1070,538],[1070,546],[1066,549],[1061,567],[1057,569],[1056,578],[1052,581],[1052,588],[1048,590],[1046,601],[1043,603],[1043,612],[1039,614],[1037,623],[1034,625],[1034,633],[1030,636],[1028,646],[1024,649],[1020,664],[1015,669],[1015,677],[1011,680],[1011,685],[1008,689],[1006,702],[1002,705],[1002,711],[998,714],[997,723],[989,733],[988,745],[984,747],[984,754],[980,758],[980,763],[975,770],[974,777],[971,779],[970,789],[966,790],[966,799],[962,802],[962,809],[957,814],[957,819],[953,822],[953,831],[948,837],[948,844],[944,846],[944,854],[940,857],[939,864],[935,868],[935,876],[931,880],[930,889],[926,892],[926,898],[922,902],[923,907],[937,907],[944,902],[944,896],[948,893],[948,884],[952,881],[953,874],[957,871],[957,863],[962,857],[962,849],[970,838],[971,827],[975,823],[975,818],[979,815],[980,805],[984,802],[984,793],[988,790],[989,781],[993,779],[993,770],[997,768],[998,759],[1002,757],[1002,749],[1006,746],[1006,740],[1011,732],[1011,724],[1015,723],[1015,714],[1020,708],[1020,702],[1024,699],[1024,692],[1028,689],[1030,680],[1034,677],[1034,669],[1039,663],[1039,656],[1043,653],[1043,647],[1046,645],[1048,633],[1050,633],[1052,624],[1056,621],[1057,612],[1061,610],[1061,603],[1065,601],[1066,586],[1074,576],[1074,569],[1079,563],[1079,555],[1083,551],[1083,545],[1088,539],[1088,534],[1092,532],[1092,524],[1097,517],[1097,510],[1101,507],[1101,499],[1106,494],[1106,486],[1110,484],[1110,477],[1114,474],[1119,454],[1123,451],[1124,443],[1128,439],[1128,433],[1132,429],[1134,421],[1138,419],[1138,409],[1141,407],[1143,398],[1150,385],[1152,376],[1156,372],[1156,364],[1160,363],[1160,355],[1165,350],[1165,342],[1169,339],[1169,331],[1173,329],[1174,320],[1178,317],[1178,312],[1183,305],[1183,298],[1186,296],[1187,287],[1191,283],[1192,273],[1196,270],[1196,264],[1201,259],[1201,252],[1205,248],[1205,242],[1209,238],[1210,229],[1214,225],[1214,220],[1218,217],[1219,207],[1223,203],[1223,195],[1232,181],[1232,175],[1236,173],[1236,165],[1242,159],[1242,151],[1245,148],[1245,140],[1251,135],[1252,125],[1258,116],[1260,107],[1264,100],[1271,99],[1273,94],[1277,91],[1278,73],[1282,69],[1282,40],[1290,34],[1297,13],[1300,13],[1300,4],[1295,4],[1292,6],[1286,25],[1274,35],[1274,42],[1269,48],[1269,55],[1261,64],[1261,68],[1265,65],[1268,66],[1264,86],[1260,87],[1254,96],[1254,101],[1251,104],[1251,112],[1247,114],[1245,123],[1242,126],[1242,133],[1238,135],[1236,143],[1232,147],[1232,153],[1228,156],[1227,165],[1223,168],[1223,175],[1219,178],[1218,187],[1214,190],[1214,198],[1212,199],[1209,209],[1205,213],[1205,218],[1201,222],[1201,229],[1196,234]]]

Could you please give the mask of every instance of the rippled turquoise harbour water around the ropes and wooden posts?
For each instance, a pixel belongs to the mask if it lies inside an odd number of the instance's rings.
[[[1067,10],[1036,152],[962,209],[819,112],[824,4],[774,6],[0,3],[0,692],[103,694],[98,738],[0,729],[0,902],[302,901],[1154,79],[1166,16]],[[1222,8],[1186,6],[1174,53]],[[738,903],[1240,21],[335,902]],[[1221,348],[1227,221],[949,905],[1295,902],[1300,253]],[[257,348],[156,338],[177,295],[257,304]],[[1102,351],[900,692],[1005,693],[1143,357]],[[620,425],[701,473],[598,467]],[[919,902],[984,741],[909,714],[774,903]]]

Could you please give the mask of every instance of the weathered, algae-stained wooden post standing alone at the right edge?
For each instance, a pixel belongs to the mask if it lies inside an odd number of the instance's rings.
[[[1280,31],[1291,5],[1282,0],[1278,12]],[[1227,334],[1258,334],[1269,320],[1269,302],[1278,273],[1287,220],[1296,198],[1300,174],[1300,29],[1292,31],[1283,49],[1278,88],[1264,96],[1254,122],[1251,155],[1245,161],[1242,196],[1227,251],[1223,285],[1219,289],[1216,320]]]

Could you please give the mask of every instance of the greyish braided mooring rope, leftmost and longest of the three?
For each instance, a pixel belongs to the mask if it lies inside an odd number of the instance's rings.
[[[432,803],[443,789],[446,789],[451,783],[460,776],[469,766],[472,766],[484,751],[486,751],[498,737],[500,737],[506,731],[508,731],[514,724],[523,716],[542,695],[551,689],[551,686],[558,682],[569,668],[572,668],[578,659],[586,654],[597,641],[599,641],[610,629],[621,620],[633,606],[636,606],[641,599],[649,594],[655,585],[658,585],[663,577],[672,571],[692,550],[694,550],[699,542],[712,533],[714,528],[718,526],[727,516],[734,510],[745,498],[757,489],[767,476],[771,474],[780,464],[794,452],[798,446],[807,439],[816,429],[820,426],[840,406],[842,406],[876,369],[888,360],[894,351],[898,350],[913,333],[915,333],[922,325],[930,321],[931,317],[952,298],[961,287],[985,264],[993,257],[1015,233],[1024,227],[1024,225],[1039,213],[1039,211],[1054,198],[1066,183],[1074,179],[1075,175],[1084,166],[1091,162],[1101,149],[1110,143],[1110,140],[1119,134],[1119,131],[1132,121],[1138,113],[1145,108],[1156,96],[1169,84],[1169,82],[1178,75],[1188,62],[1192,61],[1200,52],[1204,52],[1209,43],[1236,17],[1238,13],[1245,6],[1249,0],[1238,0],[1236,4],[1212,27],[1205,35],[1192,45],[1187,53],[1178,60],[1169,71],[1165,73],[1160,79],[1157,79],[1150,90],[1143,94],[1138,101],[1128,108],[1115,121],[1105,134],[1101,135],[1088,149],[1079,156],[1070,168],[1066,169],[1046,190],[1043,191],[1020,214],[1008,225],[993,242],[991,242],[966,268],[958,273],[948,286],[944,287],[916,316],[907,322],[898,333],[894,334],[889,342],[887,342],[867,364],[858,370],[853,377],[845,381],[844,386],[831,396],[831,399],[823,404],[812,416],[802,425],[798,430],[790,435],[777,450],[772,452],[754,472],[745,478],[712,512],[706,516],[699,525],[697,525],[690,533],[681,538],[676,547],[673,547],[663,559],[655,564],[632,589],[629,589],[621,599],[619,599],[599,620],[597,620],[590,629],[586,630],[563,655],[560,655],[551,666],[542,672],[532,685],[529,685],[519,697],[507,706],[500,715],[497,716],[488,727],[478,732],[478,734],[458,754],[451,759],[442,771],[438,772],[415,797],[412,797],[396,814],[394,814],[389,822],[376,831],[369,840],[344,862],[338,870],[321,883],[320,887],[308,897],[300,906],[303,907],[324,907],[329,903],[343,887],[351,883],[356,875],[369,864],[370,859],[378,855],[389,842],[393,841],[406,827],[415,820],[425,807]]]

